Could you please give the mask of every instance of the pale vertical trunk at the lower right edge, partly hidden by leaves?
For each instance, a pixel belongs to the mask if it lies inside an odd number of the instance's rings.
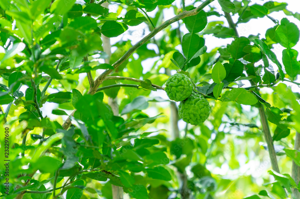
[[[296,132],[294,149],[300,149],[300,133],[298,132]],[[296,184],[298,185],[300,181],[300,167],[294,161],[292,164],[292,179],[294,179]],[[298,191],[298,189],[292,188],[292,198],[300,198],[300,192]]]

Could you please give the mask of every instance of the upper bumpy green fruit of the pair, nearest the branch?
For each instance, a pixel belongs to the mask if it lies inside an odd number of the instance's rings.
[[[187,99],[193,91],[193,83],[186,75],[176,73],[166,81],[165,91],[176,102]]]

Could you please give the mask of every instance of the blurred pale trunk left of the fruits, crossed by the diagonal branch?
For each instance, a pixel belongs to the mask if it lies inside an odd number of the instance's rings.
[[[105,8],[108,8],[109,3],[103,3],[102,6]],[[110,64],[110,56],[111,56],[111,45],[110,45],[110,38],[104,36],[103,34],[101,35],[102,37],[102,43],[103,43],[103,50],[106,52],[108,55],[108,58],[105,59],[105,63]],[[118,105],[118,98],[108,98],[108,105],[113,110],[113,115],[119,116],[119,105]],[[113,192],[113,199],[123,199],[123,188],[112,185],[112,192]]]

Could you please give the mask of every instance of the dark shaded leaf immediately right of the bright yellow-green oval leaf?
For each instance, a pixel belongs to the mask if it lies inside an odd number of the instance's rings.
[[[229,58],[229,63],[224,63],[224,68],[226,70],[225,80],[231,82],[234,81],[239,76],[241,76],[241,74],[244,71],[244,64],[241,63],[241,61],[239,60]]]

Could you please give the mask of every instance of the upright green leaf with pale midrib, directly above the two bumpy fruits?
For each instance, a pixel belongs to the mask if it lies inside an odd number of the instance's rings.
[[[201,40],[204,41],[202,38]],[[200,37],[196,34],[187,33],[182,38],[182,51],[184,56],[189,59],[199,50]]]

